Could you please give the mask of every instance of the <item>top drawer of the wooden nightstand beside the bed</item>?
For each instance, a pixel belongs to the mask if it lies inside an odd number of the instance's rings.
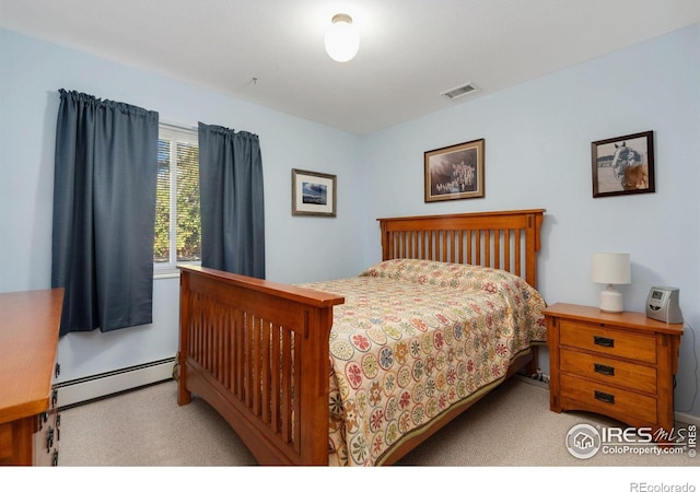
[[[559,320],[559,331],[562,345],[656,363],[656,338],[653,335],[632,333],[568,319]]]

